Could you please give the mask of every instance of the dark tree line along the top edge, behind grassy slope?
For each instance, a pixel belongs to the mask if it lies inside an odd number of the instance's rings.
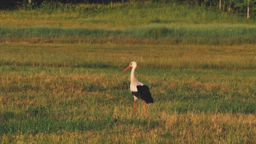
[[[19,4],[34,4],[40,7],[43,2],[49,3],[87,3],[87,4],[109,4],[127,2],[155,2],[155,3],[179,3],[187,5],[201,5],[208,8],[215,8],[219,11],[228,11],[247,17],[256,17],[256,0],[2,0],[1,8],[9,8]]]

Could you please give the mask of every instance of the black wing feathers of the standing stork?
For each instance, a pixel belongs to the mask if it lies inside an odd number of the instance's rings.
[[[152,95],[151,95],[151,93],[150,93],[150,91],[149,91],[148,86],[146,86],[146,85],[137,86],[137,89],[138,89],[137,92],[132,92],[132,94],[133,94],[135,97],[146,101],[147,104],[154,102],[154,100],[153,100],[153,98],[152,98]]]

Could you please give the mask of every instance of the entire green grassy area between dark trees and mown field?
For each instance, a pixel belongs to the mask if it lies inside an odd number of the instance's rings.
[[[45,13],[45,10],[49,10]],[[43,5],[1,11],[1,43],[255,44],[255,19],[189,5]],[[11,17],[11,19],[10,19]]]

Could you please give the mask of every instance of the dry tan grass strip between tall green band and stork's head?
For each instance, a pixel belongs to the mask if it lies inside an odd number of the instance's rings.
[[[1,47],[1,65],[120,68],[135,60],[140,68],[255,68],[254,45],[1,44]]]

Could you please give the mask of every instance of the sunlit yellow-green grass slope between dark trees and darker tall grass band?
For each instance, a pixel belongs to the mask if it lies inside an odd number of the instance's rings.
[[[122,27],[149,25],[150,23],[176,23],[207,25],[228,23],[230,25],[254,25],[255,19],[247,19],[235,14],[220,13],[197,5],[172,3],[115,3],[100,4],[59,4],[57,7],[45,5],[39,9],[0,11],[0,26],[65,26],[88,27],[101,23],[101,27]],[[56,5],[54,5],[56,6]],[[45,12],[48,11],[48,12]]]

